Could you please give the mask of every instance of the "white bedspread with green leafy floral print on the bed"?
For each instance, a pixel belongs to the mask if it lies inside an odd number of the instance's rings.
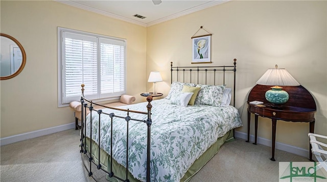
[[[147,111],[148,102],[120,108]],[[242,126],[239,112],[232,106],[214,107],[171,105],[168,99],[153,100],[151,125],[151,181],[180,181],[185,172],[203,152],[230,129]],[[126,112],[104,109],[105,113],[126,117]],[[134,119],[147,115],[130,113]],[[92,139],[98,143],[99,115],[92,112]],[[90,115],[86,128],[90,127]],[[110,154],[110,117],[101,115],[101,148]],[[87,129],[86,136],[90,136]],[[112,157],[126,167],[126,121],[113,119]],[[98,143],[99,144],[99,143]],[[147,124],[129,121],[128,169],[135,178],[146,180]]]

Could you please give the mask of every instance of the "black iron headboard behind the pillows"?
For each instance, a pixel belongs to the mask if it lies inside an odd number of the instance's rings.
[[[200,79],[204,76],[205,82],[200,84],[207,84],[207,76],[209,75],[210,78],[213,78],[213,84],[216,85],[216,71],[222,71],[223,73],[223,85],[225,85],[225,72],[226,71],[233,71],[233,106],[235,107],[235,85],[236,85],[236,59],[233,60],[233,66],[174,66],[173,62],[170,62],[171,66],[171,83],[173,83],[173,71],[176,71],[176,81],[178,82],[179,79],[179,71],[182,73],[182,81],[185,83],[185,75],[186,77],[190,77],[190,80],[186,80],[186,82],[192,82],[192,71],[196,72],[196,84],[199,84]],[[194,75],[193,75],[194,76]],[[201,77],[201,78],[200,78]]]

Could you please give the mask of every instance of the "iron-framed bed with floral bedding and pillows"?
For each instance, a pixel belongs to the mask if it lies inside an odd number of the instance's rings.
[[[199,84],[201,71],[203,84]],[[215,83],[216,71],[223,72],[222,85]],[[233,72],[233,88],[226,88],[226,71]],[[86,109],[91,111],[81,117],[85,121],[80,151],[87,156],[88,163],[83,163],[89,176],[96,179],[92,172],[96,166],[110,181],[188,181],[233,138],[233,129],[242,126],[238,110],[229,105],[231,100],[235,105],[231,90],[235,93],[236,59],[233,66],[173,67],[171,63],[171,72],[165,98],[149,96],[147,102],[117,108],[94,110],[99,104],[87,100],[82,88],[82,115]],[[207,84],[208,80],[214,84]]]

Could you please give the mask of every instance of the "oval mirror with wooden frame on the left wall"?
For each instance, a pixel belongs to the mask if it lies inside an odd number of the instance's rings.
[[[0,80],[7,80],[22,71],[26,63],[26,54],[15,38],[2,33],[0,33],[0,38]]]

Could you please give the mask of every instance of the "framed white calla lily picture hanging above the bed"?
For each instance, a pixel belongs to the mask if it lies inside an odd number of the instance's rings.
[[[192,37],[193,63],[211,63],[211,35]]]

